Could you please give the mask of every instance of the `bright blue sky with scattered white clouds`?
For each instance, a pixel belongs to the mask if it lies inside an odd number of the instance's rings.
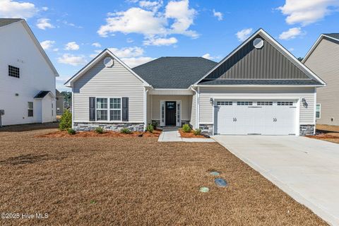
[[[105,48],[129,66],[157,57],[220,61],[258,28],[296,57],[339,32],[339,0],[0,0],[0,18],[25,18],[59,71],[57,88]]]

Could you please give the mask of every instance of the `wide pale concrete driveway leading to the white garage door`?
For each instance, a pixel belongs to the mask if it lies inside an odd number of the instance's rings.
[[[339,225],[339,144],[298,136],[213,136],[299,203]]]

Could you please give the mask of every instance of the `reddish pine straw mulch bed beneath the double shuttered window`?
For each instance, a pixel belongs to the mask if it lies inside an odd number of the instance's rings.
[[[131,132],[131,133],[120,133],[115,131],[105,131],[104,133],[95,133],[95,131],[77,131],[76,134],[69,134],[67,131],[54,131],[52,133],[46,133],[37,135],[37,137],[159,137],[161,131],[154,130],[150,132]]]

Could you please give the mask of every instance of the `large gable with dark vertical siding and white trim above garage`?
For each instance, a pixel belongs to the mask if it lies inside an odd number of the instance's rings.
[[[260,49],[255,49],[251,43],[257,37],[260,37],[264,42]],[[304,66],[263,29],[254,32],[251,37],[222,59],[218,65],[208,71],[194,85],[213,85],[215,83],[206,82],[217,79],[244,79],[248,82],[245,84],[242,81],[242,85],[257,85],[257,82],[253,82],[256,80],[266,80],[266,83],[262,85],[284,85],[285,82],[282,80],[295,81],[285,85],[302,85],[303,82],[296,82],[299,80],[309,80],[309,85],[314,86],[326,85],[321,78],[316,76],[307,66]],[[280,80],[280,82],[267,83],[269,80]],[[218,85],[222,84],[235,85],[238,82],[218,81]]]

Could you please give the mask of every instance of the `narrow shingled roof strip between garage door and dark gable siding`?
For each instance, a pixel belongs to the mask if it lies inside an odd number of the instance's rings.
[[[318,81],[304,80],[248,80],[248,79],[216,79],[201,81],[199,85],[321,85]]]

